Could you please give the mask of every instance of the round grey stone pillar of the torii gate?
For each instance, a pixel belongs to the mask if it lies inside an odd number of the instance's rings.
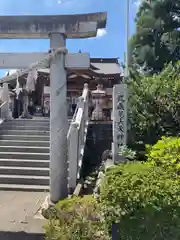
[[[66,37],[50,34],[50,47],[65,47]],[[53,51],[53,50],[52,50]],[[60,53],[50,63],[50,196],[57,202],[68,195],[67,131],[65,54]]]

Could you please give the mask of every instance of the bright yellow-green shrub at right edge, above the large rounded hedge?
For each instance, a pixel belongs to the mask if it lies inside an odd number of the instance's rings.
[[[180,138],[162,137],[155,145],[147,146],[148,162],[156,166],[180,170]]]

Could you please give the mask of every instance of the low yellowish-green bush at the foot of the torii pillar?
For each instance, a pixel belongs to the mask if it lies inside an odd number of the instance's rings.
[[[99,205],[91,196],[70,198],[56,205],[45,227],[46,240],[105,240]]]

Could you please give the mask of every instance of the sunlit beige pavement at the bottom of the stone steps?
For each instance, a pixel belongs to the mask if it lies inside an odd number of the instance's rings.
[[[44,239],[38,210],[47,193],[0,191],[0,240]]]

